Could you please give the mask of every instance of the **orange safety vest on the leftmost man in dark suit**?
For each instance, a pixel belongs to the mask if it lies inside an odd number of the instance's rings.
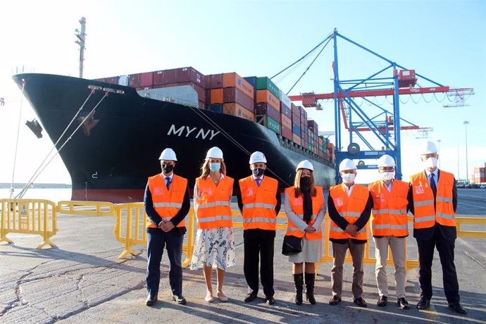
[[[182,201],[184,201],[184,194],[187,189],[187,179],[173,175],[172,182],[167,190],[166,179],[162,173],[159,173],[149,177],[149,189],[155,211],[163,220],[168,221],[182,208]],[[146,225],[147,228],[156,228],[158,224],[154,224],[147,217]],[[185,227],[184,220],[177,224],[177,228],[183,227]]]

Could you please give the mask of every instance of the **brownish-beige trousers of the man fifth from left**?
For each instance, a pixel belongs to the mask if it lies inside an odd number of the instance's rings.
[[[363,258],[366,244],[355,244],[351,239],[348,239],[346,244],[339,244],[332,242],[332,256],[334,263],[332,263],[331,270],[331,287],[332,295],[342,296],[342,265],[344,263],[344,256],[349,249],[351,258],[353,260],[353,284],[351,291],[354,298],[360,298],[363,295]]]

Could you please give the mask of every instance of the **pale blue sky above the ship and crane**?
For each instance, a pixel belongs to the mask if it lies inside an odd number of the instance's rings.
[[[442,108],[443,103],[425,96],[433,100],[409,101],[401,106],[401,116],[433,127],[429,139],[440,139],[440,167],[456,177],[458,171],[461,178],[466,174],[464,120],[470,122],[469,173],[486,161],[485,1],[2,1],[0,10],[0,96],[6,99],[0,107],[0,182],[11,181],[20,109],[20,91],[11,75],[15,67],[25,66],[77,76],[74,30],[82,16],[87,19],[87,78],[184,66],[204,74],[271,76],[337,27],[342,35],[442,85],[473,87],[475,95],[466,101],[470,106]],[[331,45],[291,94],[332,92]],[[342,41],[338,46],[341,79],[367,77],[385,67],[356,47]],[[304,68],[278,86],[287,91]],[[332,103],[323,107],[307,111],[320,130],[333,130]],[[46,136],[37,139],[23,125],[32,118],[35,113],[24,101],[15,182],[27,181],[51,148]],[[407,177],[422,168],[416,155],[421,141],[413,132],[402,132],[401,139]],[[373,172],[367,176],[375,177]],[[70,178],[57,158],[37,181]]]

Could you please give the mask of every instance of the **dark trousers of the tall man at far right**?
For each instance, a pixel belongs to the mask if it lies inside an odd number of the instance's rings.
[[[434,248],[439,251],[442,263],[442,281],[444,293],[449,303],[459,302],[459,283],[457,282],[456,266],[454,266],[454,239],[444,239],[437,231],[432,239],[417,240],[418,247],[418,282],[420,296],[432,298],[432,259]]]

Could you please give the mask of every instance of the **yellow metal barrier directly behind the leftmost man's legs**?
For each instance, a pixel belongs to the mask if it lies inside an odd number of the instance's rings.
[[[187,217],[187,244],[182,244],[182,251],[186,254],[186,259],[182,262],[182,268],[187,268],[191,262],[192,252],[194,251],[194,210],[189,210]],[[125,244],[125,250],[118,258],[126,258],[129,254],[135,256],[132,247],[136,244],[147,245],[147,232],[145,230],[145,220],[147,214],[144,204],[118,204],[116,206],[116,225],[114,236],[118,242]]]

